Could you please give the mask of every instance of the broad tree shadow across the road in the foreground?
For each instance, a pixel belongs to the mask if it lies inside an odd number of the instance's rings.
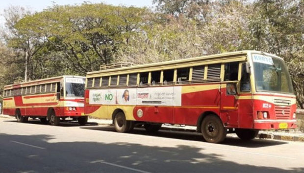
[[[141,130],[135,131],[141,133]],[[121,142],[48,142],[52,138],[54,136],[51,135],[0,133],[0,172],[136,172],[115,166],[120,165],[146,173],[286,173],[286,170],[278,168],[227,161],[222,155],[204,153],[204,149],[193,146],[158,147]],[[12,141],[38,145],[43,149]],[[303,173],[304,168],[294,168],[288,172]]]

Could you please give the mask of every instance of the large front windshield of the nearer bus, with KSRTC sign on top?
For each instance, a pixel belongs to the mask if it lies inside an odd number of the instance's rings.
[[[283,60],[253,54],[256,91],[292,93],[293,87]]]

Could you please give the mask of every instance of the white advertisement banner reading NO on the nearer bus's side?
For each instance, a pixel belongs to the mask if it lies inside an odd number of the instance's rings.
[[[89,104],[180,106],[181,86],[90,90]]]

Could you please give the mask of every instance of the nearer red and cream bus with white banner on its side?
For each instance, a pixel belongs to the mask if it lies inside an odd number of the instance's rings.
[[[208,142],[235,132],[296,128],[296,96],[284,61],[238,51],[87,73],[85,114],[112,119],[119,132],[141,124],[196,126]]]

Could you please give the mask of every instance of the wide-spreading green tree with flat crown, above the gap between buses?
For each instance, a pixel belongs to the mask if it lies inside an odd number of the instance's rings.
[[[113,61],[113,54],[141,27],[145,8],[88,4],[58,6],[28,16],[30,30],[47,38],[75,71],[86,74]],[[23,20],[22,20],[23,21]]]

